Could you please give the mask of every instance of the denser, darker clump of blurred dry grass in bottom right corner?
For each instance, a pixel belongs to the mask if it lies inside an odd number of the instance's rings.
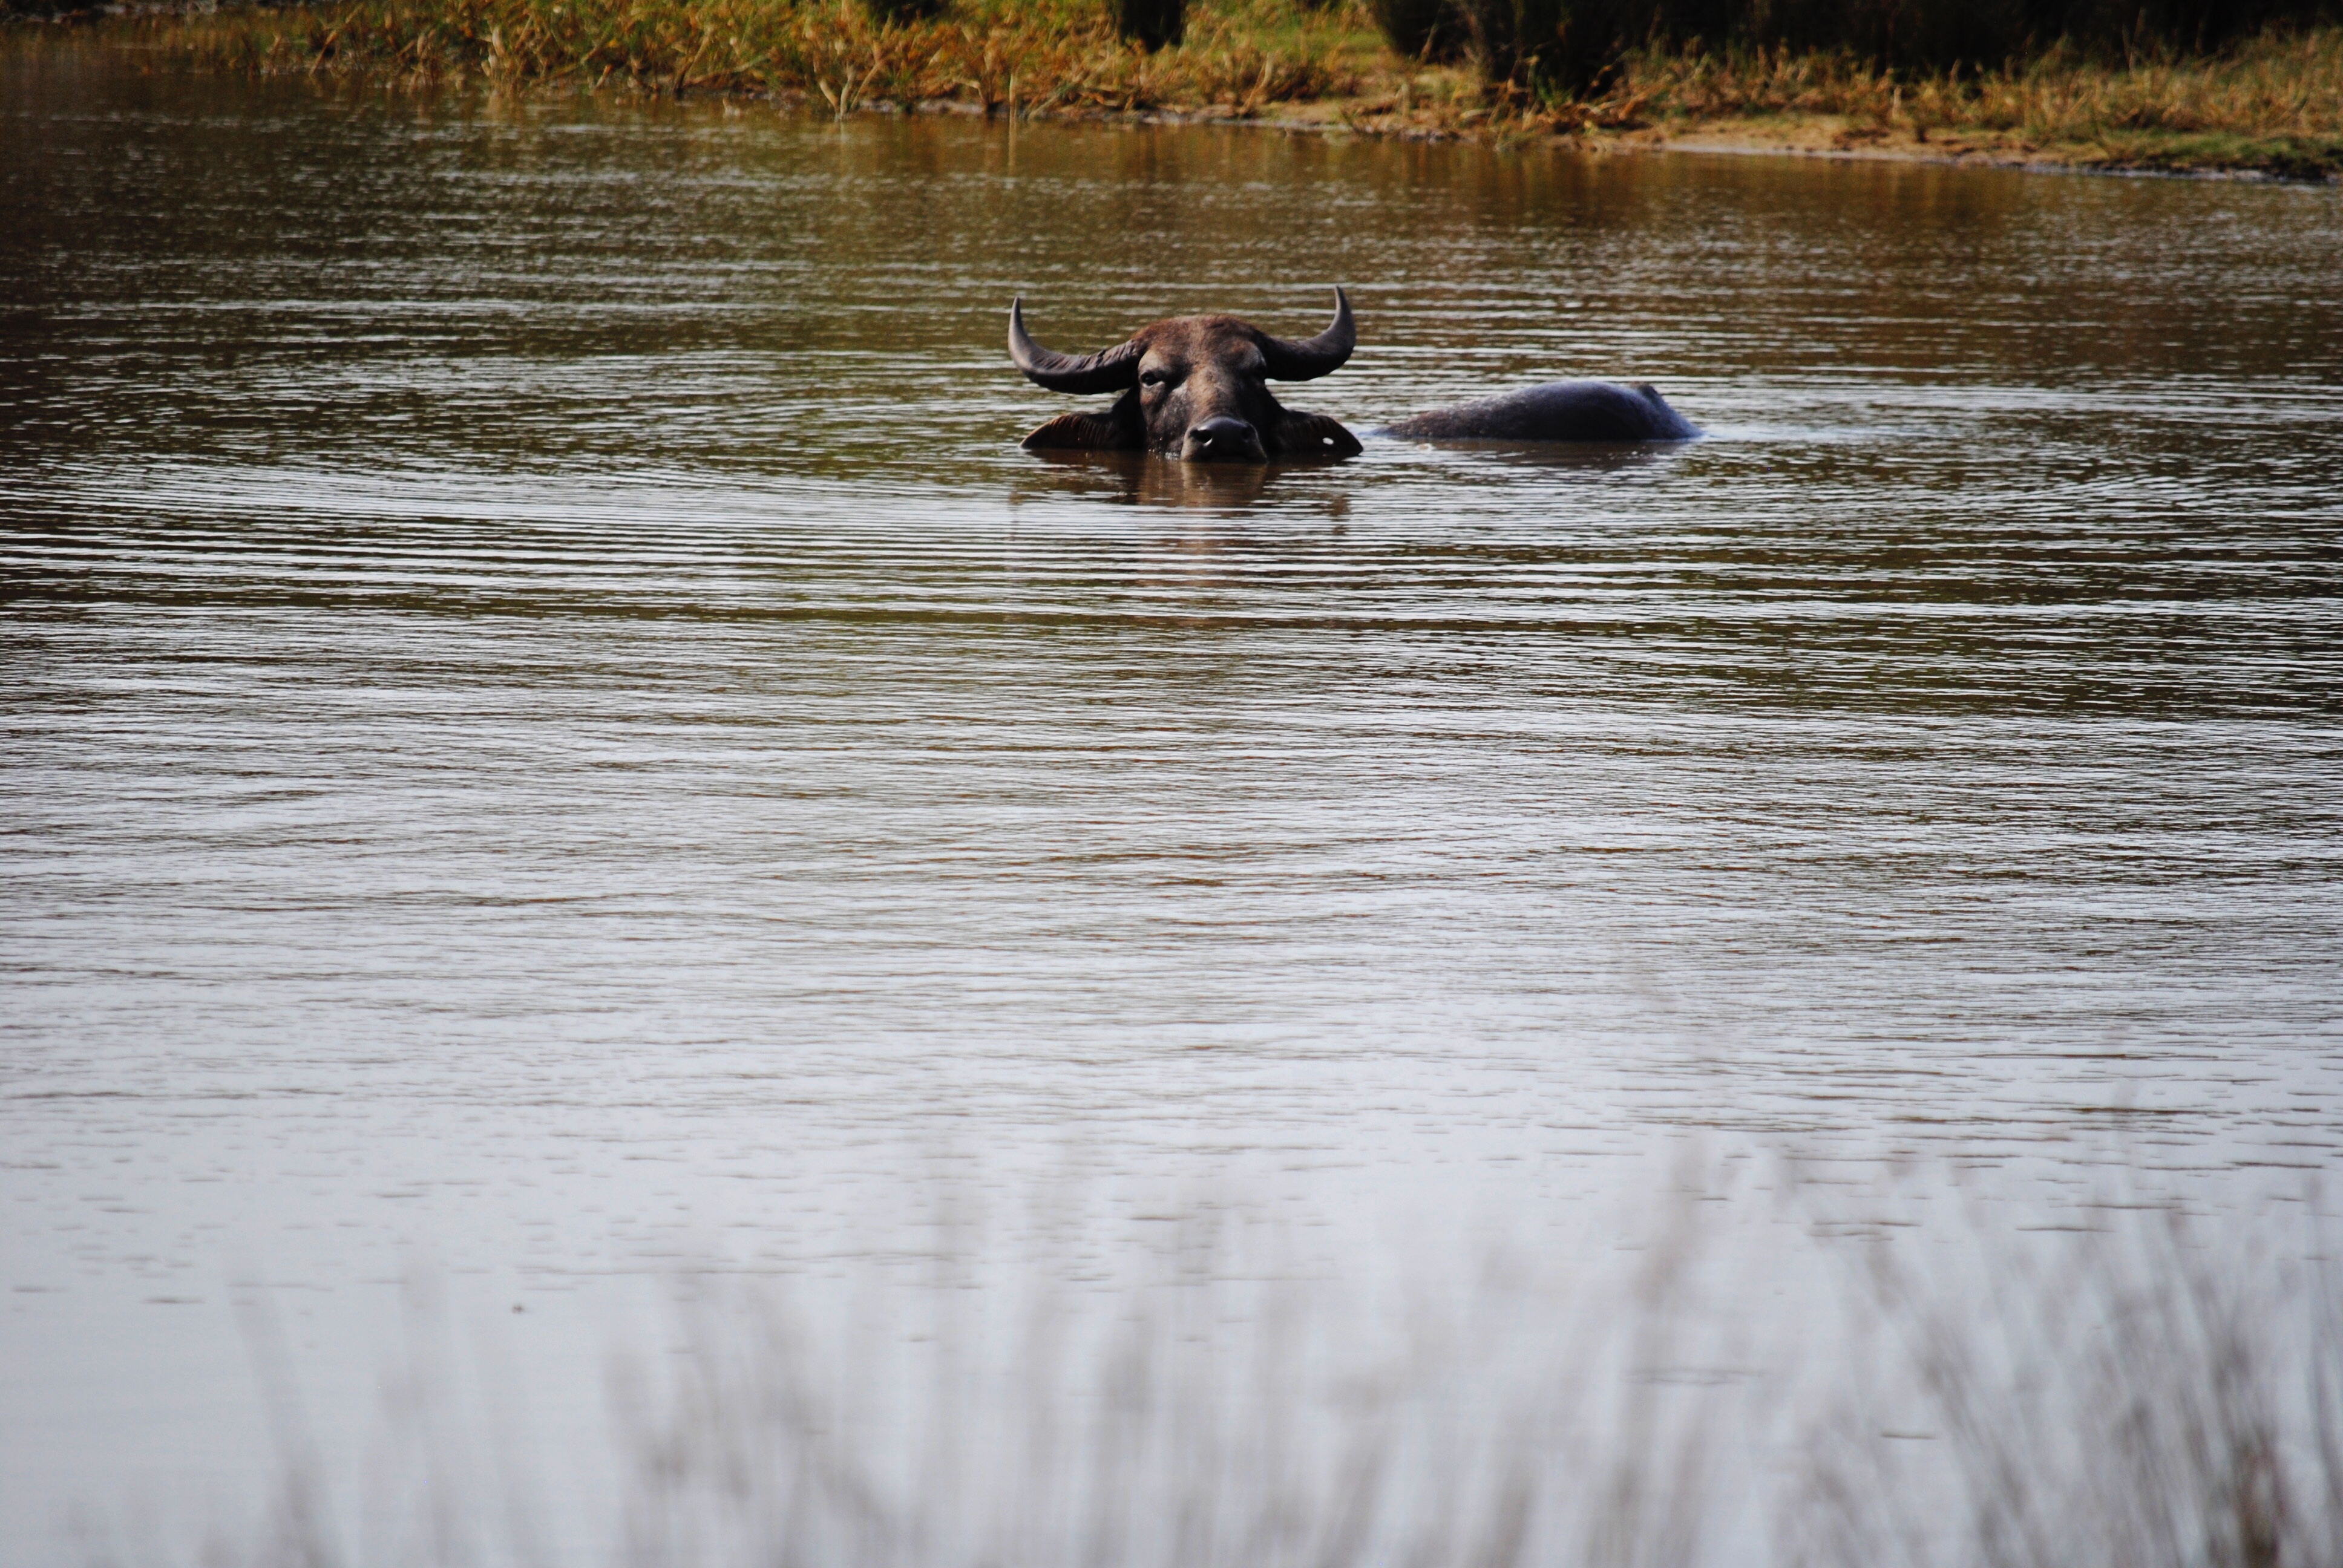
[[[1809,1446],[1811,1498],[1792,1521],[1804,1556],[2343,1561],[2334,1275],[2233,1242],[2170,1209],[2102,1209],[2052,1263],[1982,1247],[1982,1296],[1947,1289],[1940,1259],[1931,1270],[1919,1249],[1879,1245],[1870,1275],[1888,1376],[1856,1380],[1839,1427]],[[1924,1441],[1898,1441],[1912,1437]]]

